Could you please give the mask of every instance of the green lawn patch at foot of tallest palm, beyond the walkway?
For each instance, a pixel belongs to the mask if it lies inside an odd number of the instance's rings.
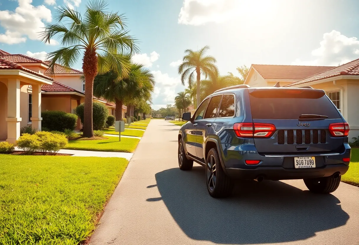
[[[133,130],[139,131],[140,130]],[[64,149],[70,150],[94,150],[97,152],[134,152],[140,140],[134,138],[121,138],[108,136],[104,140],[69,140]]]

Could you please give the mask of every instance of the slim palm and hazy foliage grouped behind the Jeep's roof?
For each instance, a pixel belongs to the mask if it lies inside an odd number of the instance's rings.
[[[182,85],[188,83],[188,88],[183,92],[177,93],[175,106],[178,110],[186,112],[186,108],[193,101],[196,108],[201,101],[214,91],[233,85],[243,84],[247,77],[249,68],[246,66],[237,67],[237,71],[242,76],[234,76],[228,72],[227,75],[221,76],[215,65],[216,59],[213,56],[206,56],[209,46],[205,46],[198,51],[192,49],[185,50],[182,64],[178,66],[178,73],[181,75]],[[201,80],[201,75],[204,80]],[[195,80],[196,76],[196,80]],[[196,86],[195,85],[196,82]]]

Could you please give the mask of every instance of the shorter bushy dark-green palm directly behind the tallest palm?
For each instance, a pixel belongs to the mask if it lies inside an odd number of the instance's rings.
[[[130,61],[128,60],[128,62]],[[94,80],[94,95],[115,102],[116,121],[122,121],[122,105],[124,102],[150,99],[155,84],[152,73],[143,65],[131,64],[130,66],[130,73],[126,78],[118,78],[115,72],[110,71],[103,75],[97,75]],[[144,90],[147,93],[143,92]],[[144,93],[147,97],[143,96]],[[133,116],[133,108],[130,107],[127,110],[130,112],[130,116]]]

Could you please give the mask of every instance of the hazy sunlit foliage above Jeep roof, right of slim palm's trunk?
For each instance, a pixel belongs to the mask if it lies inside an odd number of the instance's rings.
[[[204,99],[211,93],[220,88],[225,88],[229,86],[243,84],[243,80],[237,76],[234,76],[233,73],[228,72],[228,75],[217,76],[215,79],[211,78],[209,80],[201,81],[201,99]]]

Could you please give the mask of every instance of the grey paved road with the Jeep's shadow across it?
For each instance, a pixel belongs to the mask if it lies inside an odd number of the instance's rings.
[[[359,188],[248,181],[211,198],[204,168],[177,165],[180,127],[151,120],[90,244],[359,244]]]

